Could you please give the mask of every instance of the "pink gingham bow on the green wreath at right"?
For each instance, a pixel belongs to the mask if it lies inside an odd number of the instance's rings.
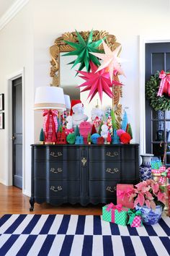
[[[163,93],[168,93],[168,95],[170,95],[170,74],[166,74],[166,72],[162,70],[159,74],[159,78],[161,78],[161,82],[157,96],[161,97]]]

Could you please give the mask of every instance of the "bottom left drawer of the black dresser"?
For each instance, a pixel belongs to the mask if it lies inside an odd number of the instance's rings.
[[[79,197],[80,182],[50,181],[48,195],[49,197]]]

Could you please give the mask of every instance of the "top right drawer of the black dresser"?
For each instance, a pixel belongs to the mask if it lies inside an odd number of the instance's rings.
[[[116,161],[120,160],[120,148],[89,148],[89,161]]]

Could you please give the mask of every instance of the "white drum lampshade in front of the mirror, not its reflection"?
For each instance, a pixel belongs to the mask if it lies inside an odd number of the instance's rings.
[[[41,86],[36,88],[34,109],[58,109],[59,111],[65,111],[66,103],[63,88],[54,86]]]

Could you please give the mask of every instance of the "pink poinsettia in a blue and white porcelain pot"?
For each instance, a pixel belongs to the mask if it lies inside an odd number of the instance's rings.
[[[166,202],[166,193],[153,179],[148,179],[135,185],[129,200],[134,200],[134,207],[141,211],[143,223],[152,225],[161,218]]]

